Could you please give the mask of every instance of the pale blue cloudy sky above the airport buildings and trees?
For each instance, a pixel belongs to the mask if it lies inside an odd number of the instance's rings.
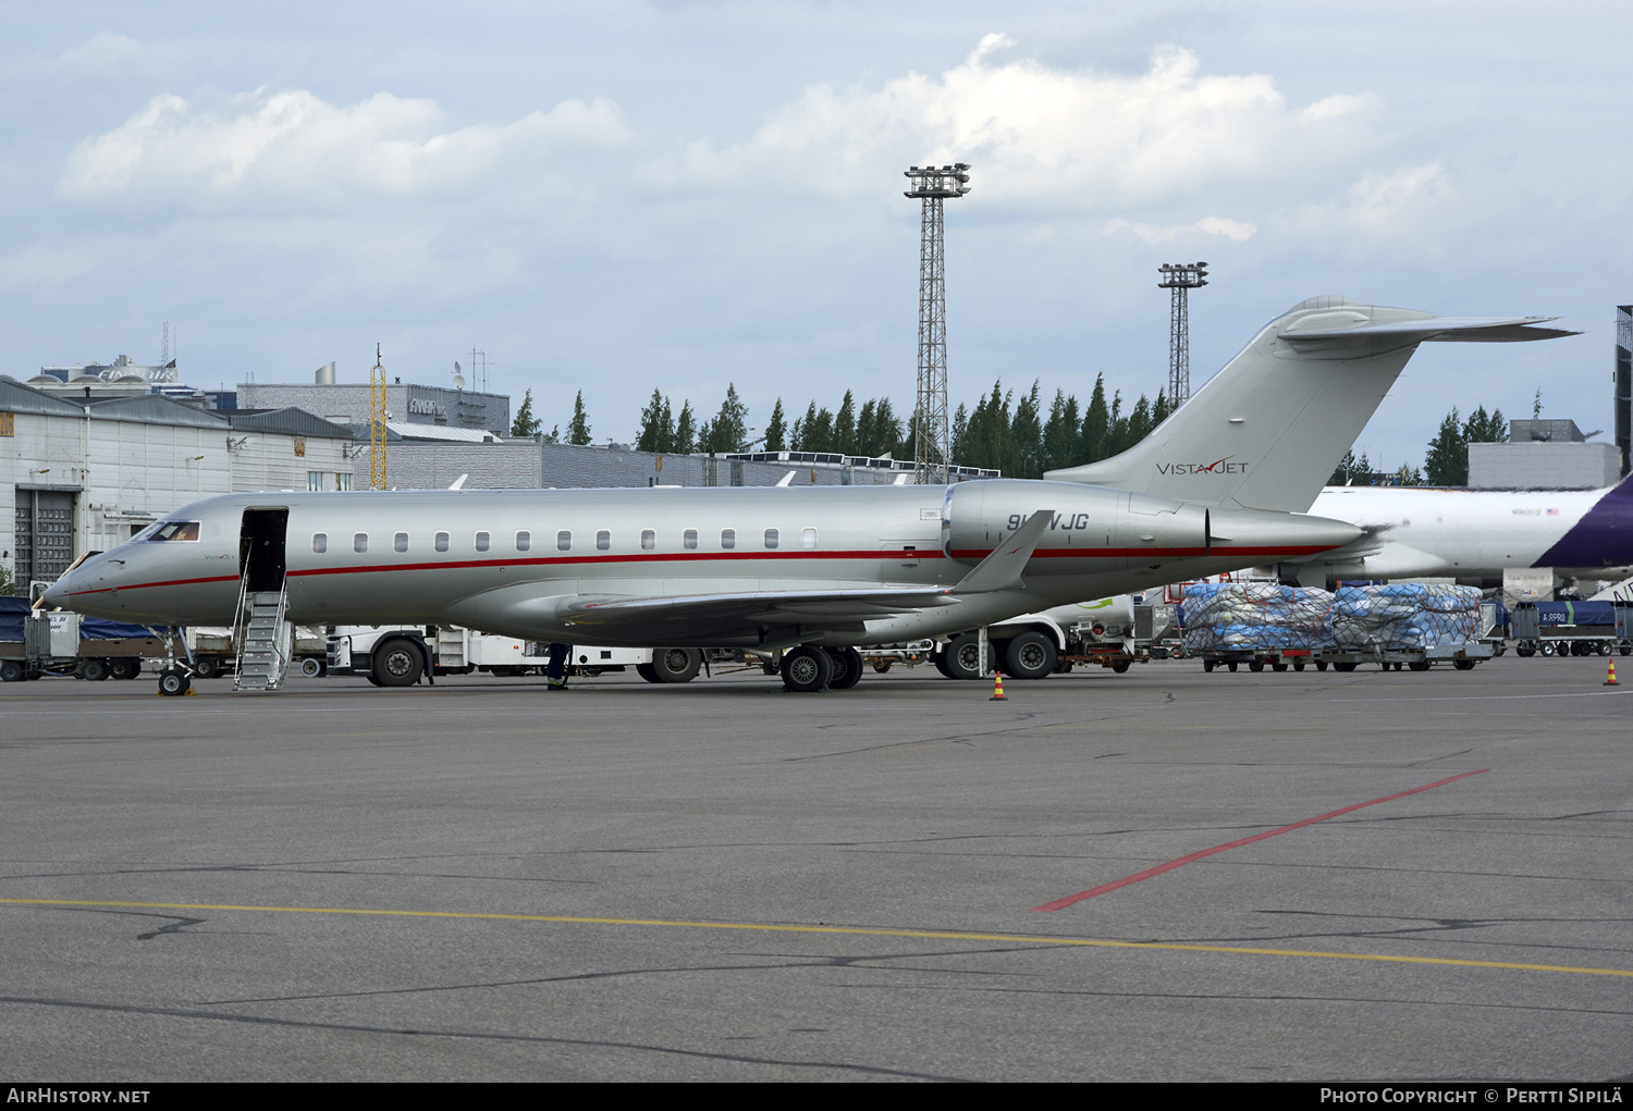
[[[954,405],[1192,382],[1311,294],[1563,316],[1424,349],[1359,445],[1453,405],[1610,426],[1633,300],[1626,3],[0,5],[0,372],[158,357],[309,382],[472,347],[545,426],[911,408],[911,163],[947,209]]]

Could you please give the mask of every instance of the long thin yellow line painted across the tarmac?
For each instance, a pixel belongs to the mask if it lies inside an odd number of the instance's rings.
[[[351,914],[385,918],[467,918],[485,922],[558,922],[572,925],[668,927],[681,930],[748,930],[758,933],[838,933],[870,938],[929,938],[937,941],[1014,941],[1022,945],[1068,945],[1101,949],[1168,949],[1177,953],[1233,953],[1239,956],[1305,956],[1329,961],[1382,961],[1386,964],[1445,964],[1453,967],[1515,969],[1525,972],[1574,972],[1577,976],[1626,976],[1633,969],[1594,969],[1571,964],[1524,964],[1519,961],[1465,961],[1448,956],[1390,956],[1385,953],[1329,953],[1321,949],[1259,949],[1233,945],[1182,945],[1177,941],[1109,941],[1104,938],[1052,938],[1029,933],[955,933],[950,930],[883,930],[872,927],[776,925],[769,922],[686,922],[674,918],[586,918],[557,914],[496,914],[482,910],[384,910],[376,907],[255,907],[211,902],[126,902],[96,899],[0,899],[0,905],[21,907],[121,907],[131,910],[240,910],[247,914]]]

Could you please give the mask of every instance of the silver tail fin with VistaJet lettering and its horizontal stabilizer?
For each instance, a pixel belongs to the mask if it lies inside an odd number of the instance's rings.
[[[1305,512],[1417,344],[1577,334],[1535,326],[1545,320],[1553,318],[1435,316],[1311,297],[1266,325],[1140,444],[1043,478]]]

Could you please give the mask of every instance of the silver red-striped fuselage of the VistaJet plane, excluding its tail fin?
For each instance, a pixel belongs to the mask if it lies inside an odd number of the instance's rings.
[[[1040,516],[1042,514],[1042,516]],[[234,620],[446,622],[625,646],[862,646],[1297,560],[1352,525],[1016,480],[957,486],[227,494],[59,579],[47,600]]]

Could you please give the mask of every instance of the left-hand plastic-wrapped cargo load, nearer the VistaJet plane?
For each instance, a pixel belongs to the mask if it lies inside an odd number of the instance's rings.
[[[1186,587],[1186,653],[1279,651],[1329,643],[1326,591],[1269,582]]]

